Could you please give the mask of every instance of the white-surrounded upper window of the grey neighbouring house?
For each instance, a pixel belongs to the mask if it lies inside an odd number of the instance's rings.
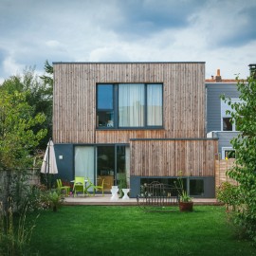
[[[240,99],[231,99],[231,103],[240,102]],[[231,115],[227,111],[233,112],[228,102],[221,101],[221,127],[222,131],[236,131],[235,122],[232,121]]]

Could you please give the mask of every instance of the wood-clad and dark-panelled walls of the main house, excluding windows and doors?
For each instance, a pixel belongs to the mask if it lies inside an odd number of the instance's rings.
[[[59,174],[74,177],[75,144],[130,145],[131,193],[139,177],[203,178],[214,194],[217,139],[206,138],[204,63],[56,63],[54,67],[53,140]],[[96,127],[99,82],[163,84],[163,128],[102,130]]]

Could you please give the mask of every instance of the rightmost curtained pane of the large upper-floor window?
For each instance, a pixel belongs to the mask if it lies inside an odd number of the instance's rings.
[[[161,84],[147,85],[147,121],[148,125],[162,126],[163,98]]]

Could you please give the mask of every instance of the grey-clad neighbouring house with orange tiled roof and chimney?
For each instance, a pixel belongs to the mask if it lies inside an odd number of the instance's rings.
[[[207,93],[207,137],[218,138],[219,158],[234,158],[235,152],[230,144],[239,131],[235,123],[231,123],[227,110],[232,111],[228,102],[221,100],[221,95],[230,98],[232,102],[240,102],[236,80],[222,79],[220,69],[217,75],[206,80]]]

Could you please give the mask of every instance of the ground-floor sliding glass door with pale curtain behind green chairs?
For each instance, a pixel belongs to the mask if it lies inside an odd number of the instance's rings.
[[[104,191],[130,182],[130,149],[123,145],[75,147],[75,176],[89,177],[94,184],[104,179]]]

